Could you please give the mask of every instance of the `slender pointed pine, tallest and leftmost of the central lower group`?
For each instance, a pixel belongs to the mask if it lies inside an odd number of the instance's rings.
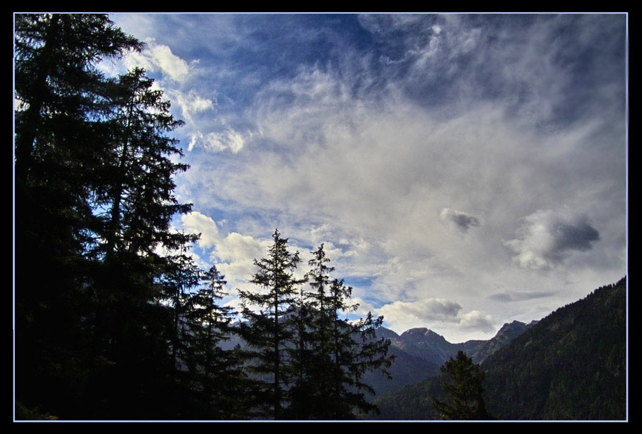
[[[250,370],[267,376],[260,381],[263,389],[260,399],[267,403],[273,418],[281,419],[285,388],[292,377],[286,354],[296,345],[289,314],[295,305],[297,286],[305,280],[293,276],[300,258],[298,252],[287,250],[287,238],[275,230],[272,239],[274,243],[267,251],[267,258],[254,261],[258,270],[250,280],[264,291],[238,290],[238,293],[241,314],[246,320],[240,333],[248,345],[255,348]]]

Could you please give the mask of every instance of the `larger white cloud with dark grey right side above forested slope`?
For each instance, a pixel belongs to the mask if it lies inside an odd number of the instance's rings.
[[[531,269],[551,268],[572,251],[588,251],[600,239],[587,216],[554,211],[536,211],[524,218],[519,238],[504,241],[516,255],[514,261]]]

